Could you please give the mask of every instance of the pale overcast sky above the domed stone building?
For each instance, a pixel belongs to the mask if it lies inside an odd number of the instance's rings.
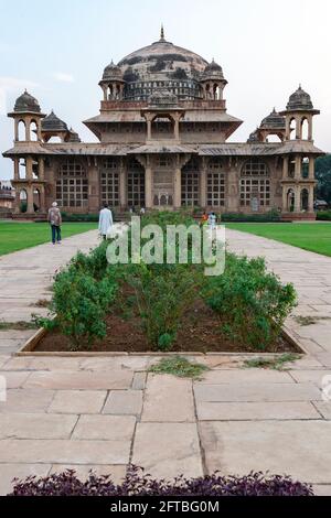
[[[0,0],[0,151],[12,147],[7,118],[24,90],[44,112],[94,136],[82,120],[98,114],[104,67],[159,39],[223,66],[227,110],[248,134],[299,85],[322,114],[316,144],[331,152],[330,0]],[[0,177],[12,164],[0,158]]]

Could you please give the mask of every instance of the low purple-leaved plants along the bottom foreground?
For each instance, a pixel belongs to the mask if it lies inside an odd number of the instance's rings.
[[[250,473],[247,476],[222,476],[220,473],[199,478],[178,477],[174,482],[153,479],[143,470],[128,468],[124,482],[116,485],[111,476],[96,476],[93,472],[81,482],[74,471],[44,478],[29,477],[14,481],[9,496],[313,496],[311,486],[287,476]]]

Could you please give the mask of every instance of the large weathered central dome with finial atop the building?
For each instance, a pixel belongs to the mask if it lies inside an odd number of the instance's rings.
[[[199,80],[209,63],[194,52],[164,40],[132,52],[118,63],[127,84],[126,99],[145,100],[157,89],[179,98],[199,98]]]

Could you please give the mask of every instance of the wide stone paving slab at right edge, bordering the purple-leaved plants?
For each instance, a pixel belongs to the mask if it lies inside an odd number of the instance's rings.
[[[221,467],[243,475],[254,465],[308,483],[330,482],[330,421],[217,422],[200,428],[210,473]]]

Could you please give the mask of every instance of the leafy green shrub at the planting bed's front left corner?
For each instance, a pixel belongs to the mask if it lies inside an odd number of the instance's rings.
[[[106,336],[105,317],[115,300],[117,284],[111,276],[96,282],[82,270],[70,268],[60,272],[53,287],[51,314],[55,316],[43,320],[46,328],[54,325],[68,336],[73,348],[90,346],[96,338]]]

